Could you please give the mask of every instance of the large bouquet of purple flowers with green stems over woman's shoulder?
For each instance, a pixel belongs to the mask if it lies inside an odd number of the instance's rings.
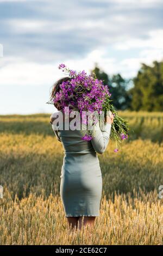
[[[71,79],[64,81],[60,84],[60,90],[57,92],[51,101],[47,103],[54,104],[58,103],[58,106],[62,109],[70,107],[73,110],[79,111],[82,116],[83,123],[88,125],[87,119],[84,118],[85,112],[104,114],[104,123],[106,114],[111,111],[114,114],[114,122],[111,126],[111,136],[116,142],[115,152],[118,151],[117,144],[123,139],[128,138],[129,123],[118,116],[117,111],[111,104],[111,93],[107,85],[104,86],[102,80],[98,80],[94,72],[91,75],[87,75],[83,70],[77,72],[70,70],[65,64],[60,64],[59,69],[65,72]],[[91,115],[93,123],[97,120],[97,115]],[[93,138],[94,131],[87,129],[83,139],[90,141]]]

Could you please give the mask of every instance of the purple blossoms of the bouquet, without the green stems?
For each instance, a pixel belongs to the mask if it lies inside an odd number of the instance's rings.
[[[103,109],[108,108],[108,96],[111,96],[108,86],[104,86],[103,80],[98,80],[92,75],[87,75],[85,70],[77,72],[70,70],[66,67],[65,64],[61,63],[58,66],[62,72],[66,72],[70,76],[70,80],[63,81],[60,84],[59,92],[55,93],[53,98],[53,103],[59,105],[60,108],[70,106],[72,109],[78,109],[80,115],[83,115],[83,112],[97,112],[98,114],[103,111]],[[113,114],[115,117],[115,113]],[[118,120],[118,116],[116,116]],[[82,116],[82,123],[88,124],[87,118]],[[122,127],[122,125],[121,125]],[[126,133],[126,131],[121,129],[121,131]],[[120,135],[119,130],[117,133]],[[120,135],[121,139],[128,138],[127,135],[122,133]],[[90,132],[90,135],[85,135],[82,137],[83,140],[90,141],[93,137],[93,133]],[[114,150],[115,152],[118,149]]]

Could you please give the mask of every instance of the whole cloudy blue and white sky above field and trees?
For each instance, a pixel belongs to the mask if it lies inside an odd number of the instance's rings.
[[[60,63],[136,76],[163,59],[162,0],[0,0],[0,114],[53,113]]]

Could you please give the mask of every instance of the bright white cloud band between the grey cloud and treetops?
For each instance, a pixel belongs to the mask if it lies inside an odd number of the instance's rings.
[[[63,62],[74,70],[85,70],[90,74],[98,63],[99,68],[107,72],[109,75],[121,73],[126,78],[131,78],[136,75],[137,70],[140,68],[141,63],[151,65],[155,59],[161,60],[163,56],[163,49],[146,49],[142,50],[139,56],[132,58],[124,58],[119,61],[116,57],[109,57],[105,48],[93,50],[85,58],[82,59],[63,59]],[[47,84],[51,87],[52,84],[62,76],[65,76],[60,70],[58,65],[61,62],[54,62],[49,64],[27,62],[24,59],[3,58],[3,67],[1,67],[1,80],[0,86],[12,85],[23,87],[41,87]],[[23,90],[23,89],[22,89]]]

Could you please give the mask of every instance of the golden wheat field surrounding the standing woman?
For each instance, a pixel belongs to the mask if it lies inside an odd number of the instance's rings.
[[[130,135],[101,163],[101,215],[95,227],[70,230],[59,187],[61,143],[50,114],[0,116],[1,245],[163,245],[163,113],[119,112]]]

